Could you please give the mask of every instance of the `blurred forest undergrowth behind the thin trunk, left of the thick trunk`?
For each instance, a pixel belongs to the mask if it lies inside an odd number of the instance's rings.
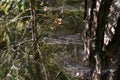
[[[85,68],[84,0],[33,1],[42,79],[78,80]],[[0,1],[0,80],[37,80],[29,4]]]

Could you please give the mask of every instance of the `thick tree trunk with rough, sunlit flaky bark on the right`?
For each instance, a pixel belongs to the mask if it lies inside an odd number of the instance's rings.
[[[120,0],[85,0],[84,51],[87,65],[92,68],[92,80],[119,79],[119,10]]]

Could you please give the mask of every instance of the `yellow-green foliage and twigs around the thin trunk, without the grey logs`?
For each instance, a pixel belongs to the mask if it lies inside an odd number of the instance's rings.
[[[59,3],[60,2],[60,3]],[[59,0],[49,3],[50,6],[63,4]],[[48,5],[49,5],[48,4]],[[42,70],[44,80],[53,80],[62,71],[62,77],[58,80],[71,80],[70,74],[66,73],[59,60],[58,49],[63,46],[49,46],[42,42],[47,32],[68,30],[77,33],[82,28],[82,11],[47,10],[43,8],[46,3],[36,0],[36,33],[38,39],[37,50],[42,60],[38,62]],[[0,1],[0,80],[36,80],[35,60],[33,52],[31,15],[29,0],[2,0]],[[62,18],[62,24],[56,27],[56,18]],[[71,24],[74,22],[74,24]],[[68,50],[69,51],[69,50]]]

